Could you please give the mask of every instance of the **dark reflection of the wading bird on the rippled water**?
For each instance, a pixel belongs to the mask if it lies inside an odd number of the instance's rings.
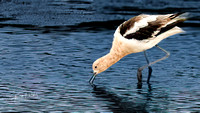
[[[140,101],[129,101],[128,97],[119,96],[115,92],[108,91],[106,87],[93,87],[93,94],[97,98],[103,98],[105,101],[108,102],[107,107],[114,113],[148,113],[146,109],[146,103],[148,100],[151,100],[151,96],[148,96],[148,94],[151,95],[151,86],[149,85],[149,93],[145,94],[145,102],[143,100]],[[143,93],[140,91],[140,88],[138,89],[138,94],[143,95]],[[137,99],[136,99],[137,100]],[[110,104],[112,103],[112,104]]]

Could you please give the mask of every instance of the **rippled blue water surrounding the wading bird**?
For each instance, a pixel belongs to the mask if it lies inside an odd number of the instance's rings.
[[[147,5],[145,5],[147,4]],[[200,3],[180,0],[1,0],[0,111],[200,111]],[[38,9],[38,10],[36,10]],[[137,86],[143,53],[128,55],[88,84],[94,60],[109,52],[113,33],[140,13],[188,11],[193,16],[159,45],[171,56],[152,66],[151,84]],[[37,15],[37,16],[35,16]],[[150,61],[164,55],[147,51]]]

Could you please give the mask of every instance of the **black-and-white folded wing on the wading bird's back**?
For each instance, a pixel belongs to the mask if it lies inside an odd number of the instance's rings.
[[[126,39],[154,38],[186,20],[186,13],[167,15],[139,15],[120,25],[120,34]]]

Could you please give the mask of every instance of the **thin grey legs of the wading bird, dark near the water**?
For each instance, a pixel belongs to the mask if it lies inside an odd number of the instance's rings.
[[[157,62],[159,62],[159,61],[161,61],[161,60],[164,60],[164,59],[168,58],[169,55],[170,55],[170,53],[169,53],[168,51],[166,51],[165,49],[161,48],[161,47],[158,46],[158,45],[155,45],[155,46],[156,46],[157,48],[161,49],[162,51],[164,51],[164,52],[166,53],[166,55],[165,55],[164,57],[162,57],[162,58],[160,58],[160,59],[154,61],[154,62],[151,62],[151,63],[149,63],[149,64],[147,64],[147,65],[145,65],[145,66],[142,66],[142,67],[138,68],[138,72],[137,72],[138,83],[141,83],[141,82],[142,82],[142,70],[143,70],[144,68],[149,67],[149,66],[151,66],[152,64],[155,64],[155,63],[157,63]],[[146,57],[146,58],[147,58],[147,57]],[[148,59],[147,59],[147,60],[148,60]],[[148,62],[148,61],[147,61],[147,62]],[[150,74],[150,71],[152,71],[152,69],[149,69],[149,74]],[[148,76],[147,83],[149,83],[150,77],[151,77],[151,76]]]

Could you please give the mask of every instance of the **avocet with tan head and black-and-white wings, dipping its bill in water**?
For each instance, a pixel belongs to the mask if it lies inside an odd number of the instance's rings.
[[[148,63],[147,65],[138,68],[138,82],[142,82],[142,70],[148,67],[149,75],[147,83],[149,83],[152,73],[152,68],[150,66],[156,62],[166,59],[170,55],[168,51],[161,48],[157,44],[171,35],[184,32],[177,25],[185,21],[187,19],[187,15],[188,13],[166,15],[141,14],[122,23],[118,26],[114,33],[114,39],[110,52],[93,63],[93,76],[89,80],[89,83],[93,85],[93,81],[97,74],[105,71],[124,56],[138,52],[144,52],[144,56]],[[154,46],[164,51],[166,56],[154,62],[149,62],[145,51]]]

